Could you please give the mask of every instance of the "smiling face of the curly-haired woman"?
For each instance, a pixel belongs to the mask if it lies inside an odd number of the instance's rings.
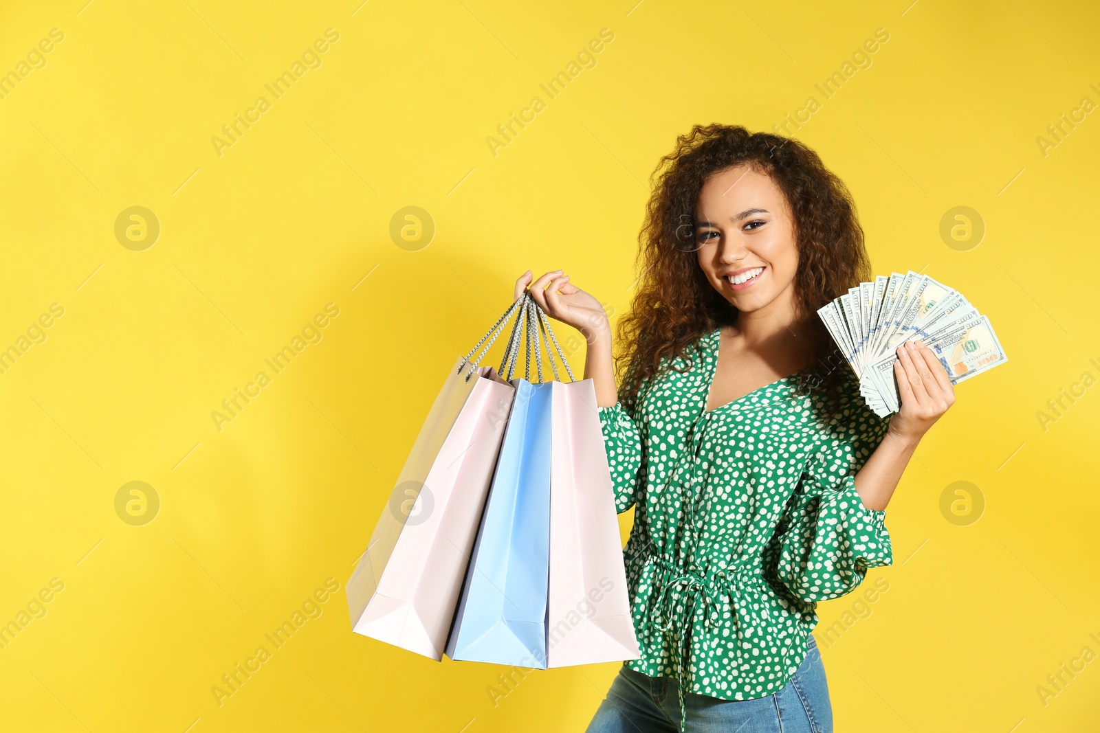
[[[795,312],[794,218],[771,177],[739,165],[707,178],[695,204],[695,245],[706,279],[738,311]]]

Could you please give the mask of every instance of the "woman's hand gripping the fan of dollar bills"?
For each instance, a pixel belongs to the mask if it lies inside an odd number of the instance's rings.
[[[944,365],[923,343],[910,341],[897,351],[894,377],[901,410],[890,419],[889,431],[906,441],[920,441],[955,403],[955,388]]]

